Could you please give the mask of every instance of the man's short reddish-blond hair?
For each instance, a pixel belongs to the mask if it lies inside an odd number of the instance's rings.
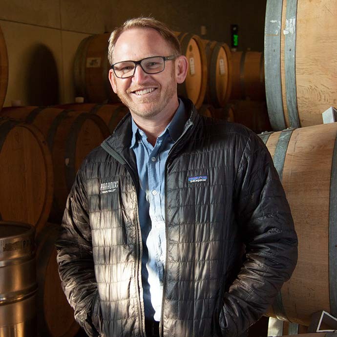
[[[131,28],[153,28],[155,29],[164,39],[169,42],[171,47],[173,48],[174,56],[181,55],[181,47],[178,39],[172,30],[169,29],[164,23],[155,20],[151,17],[139,17],[133,18],[125,21],[120,27],[116,28],[110,35],[109,38],[109,47],[108,47],[108,60],[110,64],[113,63],[112,56],[115,48],[115,44],[118,38],[128,29]]]

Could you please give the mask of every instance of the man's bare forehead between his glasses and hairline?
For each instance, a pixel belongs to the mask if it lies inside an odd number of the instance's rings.
[[[131,28],[118,38],[113,51],[113,62],[138,61],[149,56],[171,55],[172,48],[153,28]]]

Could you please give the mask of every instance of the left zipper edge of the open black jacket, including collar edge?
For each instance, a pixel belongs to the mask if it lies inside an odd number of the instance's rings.
[[[131,166],[129,165],[129,163],[126,162],[126,160],[118,153],[116,152],[114,149],[112,149],[111,147],[109,147],[108,145],[106,145],[105,143],[101,144],[101,147],[103,147],[105,149],[106,152],[108,152],[113,158],[115,158],[120,164],[125,165],[126,170],[129,172],[131,179],[133,181],[133,185],[135,186],[135,190],[136,190],[136,199],[137,199],[137,226],[136,226],[136,231],[137,231],[137,237],[138,237],[138,242],[139,242],[139,249],[137,250],[137,254],[139,253],[139,256],[136,255],[136,260],[138,259],[138,264],[137,264],[137,269],[136,269],[136,277],[137,277],[137,288],[138,288],[138,297],[137,297],[137,301],[138,301],[138,307],[139,307],[139,322],[140,322],[140,331],[143,337],[146,336],[145,334],[145,319],[143,319],[142,313],[142,305],[141,305],[141,298],[140,298],[140,285],[139,285],[139,270],[142,269],[142,255],[143,255],[143,244],[142,244],[142,233],[141,233],[141,229],[140,229],[140,225],[139,225],[139,212],[138,212],[138,190],[137,190],[137,184],[136,184],[136,178],[134,175],[134,172],[131,168]]]

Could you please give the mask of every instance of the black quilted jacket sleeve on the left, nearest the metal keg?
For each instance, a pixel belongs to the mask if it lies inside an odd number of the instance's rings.
[[[74,309],[75,319],[88,336],[99,336],[92,323],[92,309],[97,307],[98,295],[86,188],[81,170],[67,198],[56,248],[61,285]]]

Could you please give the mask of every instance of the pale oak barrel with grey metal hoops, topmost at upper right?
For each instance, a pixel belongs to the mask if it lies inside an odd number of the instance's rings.
[[[274,130],[322,124],[337,103],[337,2],[267,0],[265,77]]]

